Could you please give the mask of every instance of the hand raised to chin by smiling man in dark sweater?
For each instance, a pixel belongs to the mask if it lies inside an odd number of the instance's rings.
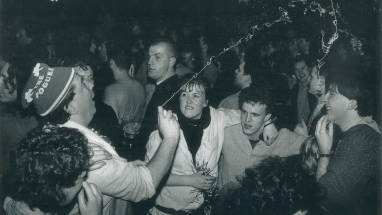
[[[316,138],[320,148],[320,154],[330,154],[333,145],[333,124],[334,121],[329,123],[329,130],[326,130],[326,122],[328,122],[329,115],[321,117],[317,122]]]

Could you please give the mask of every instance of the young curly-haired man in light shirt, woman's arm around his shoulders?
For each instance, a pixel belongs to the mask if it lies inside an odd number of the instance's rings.
[[[218,184],[224,200],[227,192],[240,184],[237,176],[244,170],[260,163],[270,155],[290,156],[299,153],[306,139],[288,129],[281,129],[279,137],[268,146],[263,141],[264,127],[273,114],[275,98],[266,85],[254,83],[244,88],[239,95],[241,123],[225,129]]]

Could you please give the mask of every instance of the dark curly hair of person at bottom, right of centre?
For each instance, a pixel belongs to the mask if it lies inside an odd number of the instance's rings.
[[[241,186],[228,197],[225,214],[276,215],[320,211],[320,187],[300,156],[267,157],[245,170]]]

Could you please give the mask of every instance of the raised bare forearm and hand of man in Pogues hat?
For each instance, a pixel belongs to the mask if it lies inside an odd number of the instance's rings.
[[[172,115],[172,112],[168,111],[165,117],[161,106],[158,106],[158,112],[159,131],[163,136],[163,140],[150,162],[146,165],[151,173],[155,188],[172,165],[180,135],[179,123]]]

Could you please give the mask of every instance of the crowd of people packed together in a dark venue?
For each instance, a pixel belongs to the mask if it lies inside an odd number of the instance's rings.
[[[375,71],[346,39],[322,65],[293,26],[113,20],[3,26],[0,214],[382,212]]]

